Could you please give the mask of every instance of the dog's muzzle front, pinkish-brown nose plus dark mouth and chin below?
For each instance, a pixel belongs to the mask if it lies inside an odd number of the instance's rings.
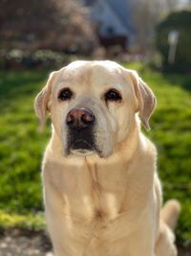
[[[68,127],[68,152],[90,153],[96,151],[94,126],[96,118],[86,107],[74,107],[66,117]]]

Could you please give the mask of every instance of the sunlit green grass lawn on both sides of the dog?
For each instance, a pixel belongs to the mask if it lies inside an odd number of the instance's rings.
[[[191,243],[191,76],[131,64],[153,88],[158,107],[146,132],[159,150],[164,198],[182,205],[178,243]],[[48,72],[0,72],[0,226],[44,226],[40,163],[50,128],[37,132],[33,99]],[[10,215],[11,214],[11,215]]]

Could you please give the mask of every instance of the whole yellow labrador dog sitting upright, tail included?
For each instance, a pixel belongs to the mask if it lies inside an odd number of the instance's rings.
[[[156,99],[133,70],[74,61],[51,74],[35,99],[53,123],[43,159],[46,220],[55,256],[175,256],[180,205],[160,210],[149,129]]]

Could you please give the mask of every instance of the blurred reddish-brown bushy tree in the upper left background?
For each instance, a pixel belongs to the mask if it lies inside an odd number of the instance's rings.
[[[0,48],[89,54],[96,35],[77,0],[1,0]]]

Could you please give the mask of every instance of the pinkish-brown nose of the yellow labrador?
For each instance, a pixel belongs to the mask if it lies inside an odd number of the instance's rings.
[[[70,128],[87,128],[95,122],[93,111],[85,107],[75,107],[69,111],[66,123]]]

